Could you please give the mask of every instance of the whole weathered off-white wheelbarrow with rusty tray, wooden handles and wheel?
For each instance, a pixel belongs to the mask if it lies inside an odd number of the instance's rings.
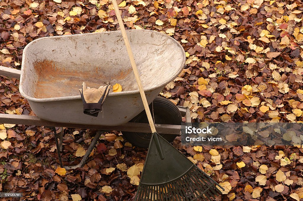
[[[128,30],[127,34],[157,131],[166,134],[163,135],[166,140],[173,141],[180,134],[181,116],[187,114],[186,119],[190,122],[189,109],[177,107],[157,96],[183,69],[184,50],[173,38],[157,31]],[[23,51],[21,71],[1,66],[0,75],[20,79],[20,93],[37,116],[0,114],[0,122],[125,131],[123,135],[128,141],[148,147],[151,129],[131,64],[125,55],[120,31],[43,37],[32,41]],[[83,114],[78,92],[83,82],[94,88],[105,82],[119,83],[123,91],[110,92],[102,112],[98,117],[92,117]],[[77,167],[84,165],[101,133],[95,136]]]

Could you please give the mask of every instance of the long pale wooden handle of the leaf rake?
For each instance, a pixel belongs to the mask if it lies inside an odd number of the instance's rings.
[[[114,5],[116,17],[118,19],[118,23],[119,23],[119,26],[120,26],[120,29],[121,29],[121,32],[122,32],[122,36],[123,36],[123,39],[124,39],[124,43],[125,43],[125,46],[126,46],[128,57],[129,57],[129,60],[131,61],[132,69],[133,69],[135,77],[136,77],[136,81],[137,81],[138,88],[139,88],[139,91],[140,91],[141,99],[142,99],[144,109],[145,109],[145,112],[146,112],[146,115],[147,115],[147,118],[148,118],[149,126],[151,127],[151,132],[155,133],[157,131],[156,131],[156,128],[155,128],[154,121],[151,117],[151,112],[149,110],[148,103],[147,103],[147,100],[146,100],[146,97],[145,97],[145,93],[144,93],[143,86],[142,86],[142,83],[141,83],[141,80],[140,80],[140,76],[139,76],[139,73],[138,73],[138,69],[137,69],[135,59],[134,59],[134,55],[132,53],[132,49],[131,49],[131,46],[129,44],[128,37],[127,37],[126,32],[125,32],[125,28],[124,28],[124,24],[123,24],[121,15],[120,15],[119,7],[118,7],[118,4],[117,4],[116,0],[112,0],[112,3]]]

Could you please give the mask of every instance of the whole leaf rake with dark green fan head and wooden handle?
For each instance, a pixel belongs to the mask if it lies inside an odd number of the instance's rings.
[[[192,201],[215,199],[215,196],[218,196],[220,193],[215,185],[222,190],[224,190],[224,188],[201,171],[168,141],[158,135],[125,32],[118,4],[116,0],[112,0],[112,3],[152,132],[151,142],[135,200]]]

